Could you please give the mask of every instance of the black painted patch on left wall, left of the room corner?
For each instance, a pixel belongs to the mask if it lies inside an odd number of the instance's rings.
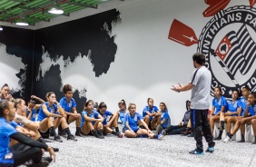
[[[15,84],[19,84],[22,89],[12,93],[13,96],[29,99],[32,92],[34,31],[4,26],[4,31],[0,32],[0,43],[6,45],[7,54],[21,57],[22,63],[25,64],[25,69],[21,69],[20,73],[16,74],[20,81]],[[10,62],[10,64],[12,63]],[[1,80],[5,83],[5,78],[1,78]]]

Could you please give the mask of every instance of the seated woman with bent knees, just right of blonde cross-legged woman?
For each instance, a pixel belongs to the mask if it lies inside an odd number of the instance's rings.
[[[156,126],[153,127],[152,123],[157,122],[158,118],[161,116],[161,113],[158,108],[153,105],[153,98],[148,98],[147,103],[148,105],[143,108],[143,121],[148,125],[148,127],[150,127],[150,129],[154,130]],[[143,128],[143,124],[139,125]]]

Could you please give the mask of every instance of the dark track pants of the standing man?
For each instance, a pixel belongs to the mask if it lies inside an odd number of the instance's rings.
[[[191,112],[192,130],[194,133],[194,140],[196,141],[196,148],[198,152],[203,152],[202,133],[206,142],[208,142],[209,147],[214,147],[215,145],[215,142],[213,142],[211,128],[207,121],[207,115],[208,109],[192,109]]]

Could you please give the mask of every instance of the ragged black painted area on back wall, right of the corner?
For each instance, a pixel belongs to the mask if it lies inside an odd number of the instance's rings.
[[[36,80],[42,64],[42,54],[47,52],[53,62],[60,56],[64,61],[75,65],[78,56],[88,58],[93,64],[95,77],[106,74],[111,63],[114,62],[117,45],[114,36],[111,36],[113,24],[121,22],[120,13],[115,9],[74,20],[61,25],[54,25],[36,30],[34,35],[34,90],[33,93],[40,97],[45,93],[54,91],[59,100],[64,94],[60,91],[62,78],[60,66],[52,65],[44,77]],[[44,49],[43,49],[44,48]],[[81,67],[81,70],[86,70]],[[89,70],[89,69],[88,69]],[[79,81],[77,81],[79,82]],[[77,111],[83,111],[86,97],[79,97],[79,92],[74,92]]]

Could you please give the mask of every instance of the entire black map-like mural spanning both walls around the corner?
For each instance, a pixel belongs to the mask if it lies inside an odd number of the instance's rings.
[[[113,9],[35,31],[5,27],[5,33],[0,34],[0,43],[6,44],[8,53],[22,57],[27,65],[26,80],[21,83],[25,89],[25,100],[31,94],[45,99],[45,93],[50,91],[54,91],[58,100],[64,96],[61,92],[63,82],[59,64],[52,64],[44,72],[44,77],[37,78],[38,74],[42,74],[40,64],[43,63],[44,52],[49,54],[53,62],[62,56],[64,61],[74,65],[77,56],[82,56],[90,60],[95,77],[107,74],[117,51],[112,29],[118,23],[121,23],[120,13]],[[81,70],[86,69],[81,67]],[[25,69],[16,74],[21,81],[24,73]],[[79,96],[79,92],[75,91],[74,99],[77,111],[82,112],[86,97]]]

